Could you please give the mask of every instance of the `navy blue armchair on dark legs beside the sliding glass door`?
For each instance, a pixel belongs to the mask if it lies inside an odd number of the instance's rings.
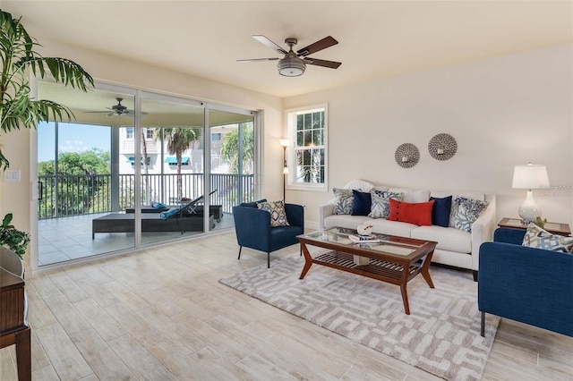
[[[270,267],[270,252],[298,243],[296,236],[304,233],[304,207],[285,204],[286,219],[290,226],[270,226],[270,214],[257,208],[256,202],[244,202],[233,207],[236,241],[239,258],[241,250],[247,247],[267,253],[267,267]]]

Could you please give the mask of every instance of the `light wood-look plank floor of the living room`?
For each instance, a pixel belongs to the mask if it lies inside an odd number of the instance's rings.
[[[237,252],[224,233],[27,279],[33,379],[437,379],[219,284],[267,260]],[[573,338],[502,319],[483,379],[573,379],[572,360]]]

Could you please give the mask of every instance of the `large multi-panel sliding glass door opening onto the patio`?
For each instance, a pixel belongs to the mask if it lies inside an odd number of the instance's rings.
[[[38,266],[229,228],[255,199],[255,112],[104,84],[38,97],[74,116],[38,125]]]

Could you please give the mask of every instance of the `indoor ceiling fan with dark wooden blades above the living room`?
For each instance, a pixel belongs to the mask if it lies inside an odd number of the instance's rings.
[[[342,63],[335,61],[320,60],[318,58],[312,58],[308,55],[319,52],[327,47],[332,47],[337,45],[338,41],[332,37],[322,38],[320,41],[309,45],[308,47],[303,47],[302,49],[293,51],[293,47],[298,42],[296,38],[286,38],[285,44],[289,47],[288,52],[279,47],[277,44],[272,42],[269,38],[262,35],[253,35],[252,38],[261,42],[261,44],[270,47],[277,53],[285,55],[283,58],[273,57],[273,58],[252,58],[247,60],[236,60],[237,62],[253,62],[253,61],[276,61],[278,60],[278,73],[286,77],[297,77],[303,75],[306,69],[306,64],[313,64],[316,66],[328,67],[330,69],[337,69]]]

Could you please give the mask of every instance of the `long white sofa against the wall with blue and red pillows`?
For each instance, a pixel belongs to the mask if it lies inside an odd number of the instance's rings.
[[[353,183],[356,184],[356,182],[349,182],[345,188],[353,189]],[[369,224],[373,226],[373,233],[437,241],[438,245],[434,250],[432,262],[473,270],[474,280],[477,280],[480,245],[484,241],[492,241],[493,231],[496,226],[495,194],[484,194],[473,191],[410,190],[386,186],[375,186],[375,189],[402,192],[404,194],[402,201],[404,202],[426,202],[431,196],[443,198],[452,195],[454,199],[456,196],[466,197],[468,199],[480,199],[487,201],[489,205],[485,211],[483,211],[483,214],[472,224],[472,232],[467,233],[454,227],[442,227],[437,225],[418,226],[416,224],[389,221],[385,218],[335,215],[335,203],[333,199],[328,204],[321,205],[319,210],[319,227],[321,229],[328,229],[338,226],[355,229],[359,224],[368,221]]]

